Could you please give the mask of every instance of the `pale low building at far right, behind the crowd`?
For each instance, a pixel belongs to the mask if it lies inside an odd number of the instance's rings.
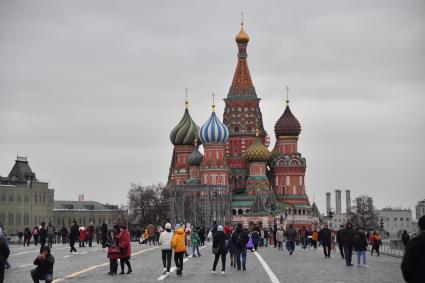
[[[399,236],[401,231],[416,231],[412,225],[412,211],[401,208],[384,208],[377,211],[378,221],[384,224],[384,230],[390,233],[390,236]]]

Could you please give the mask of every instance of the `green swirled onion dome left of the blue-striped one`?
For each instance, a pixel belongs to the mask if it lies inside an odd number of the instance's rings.
[[[195,138],[198,138],[198,132],[199,126],[196,125],[192,117],[190,117],[186,103],[183,118],[170,133],[170,141],[173,145],[193,145]]]

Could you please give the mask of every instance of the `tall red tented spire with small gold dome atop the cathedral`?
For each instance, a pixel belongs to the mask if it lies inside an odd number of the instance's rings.
[[[252,85],[251,75],[249,74],[246,47],[249,37],[246,34],[243,24],[241,30],[236,35],[236,43],[238,44],[238,64],[236,66],[235,75],[233,76],[232,85],[230,86],[228,99],[234,98],[257,98],[255,88]]]

